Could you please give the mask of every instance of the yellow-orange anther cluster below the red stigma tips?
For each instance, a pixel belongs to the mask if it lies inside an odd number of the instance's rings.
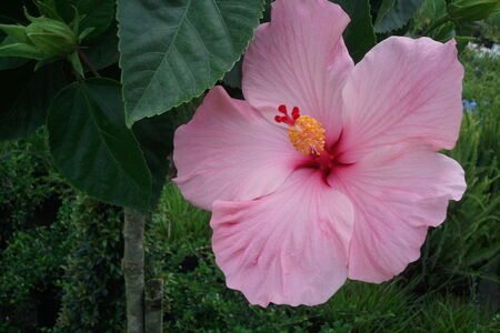
[[[307,155],[319,155],[324,149],[324,129],[318,120],[309,115],[300,115],[294,124],[288,128],[288,138],[299,152]]]

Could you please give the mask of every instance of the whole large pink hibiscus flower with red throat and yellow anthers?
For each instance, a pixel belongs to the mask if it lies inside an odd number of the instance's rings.
[[[246,101],[221,87],[178,129],[174,180],[212,212],[227,284],[253,304],[320,304],[346,279],[380,283],[420,255],[460,200],[454,41],[391,37],[354,67],[349,17],[278,0],[243,62]]]

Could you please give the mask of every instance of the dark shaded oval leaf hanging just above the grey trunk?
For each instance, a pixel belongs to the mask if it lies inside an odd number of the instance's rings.
[[[48,129],[54,164],[76,188],[104,202],[149,209],[151,179],[124,125],[118,82],[89,79],[68,85],[50,107]]]

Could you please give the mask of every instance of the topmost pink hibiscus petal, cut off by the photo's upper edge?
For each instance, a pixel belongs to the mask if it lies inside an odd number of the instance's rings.
[[[243,61],[243,94],[269,119],[280,104],[340,132],[340,92],[353,68],[342,40],[349,17],[327,0],[272,3],[272,19],[256,30]]]

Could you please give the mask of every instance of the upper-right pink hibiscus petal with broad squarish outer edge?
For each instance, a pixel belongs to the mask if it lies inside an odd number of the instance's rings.
[[[342,91],[346,161],[401,142],[453,148],[463,77],[454,44],[391,37],[366,54]]]

